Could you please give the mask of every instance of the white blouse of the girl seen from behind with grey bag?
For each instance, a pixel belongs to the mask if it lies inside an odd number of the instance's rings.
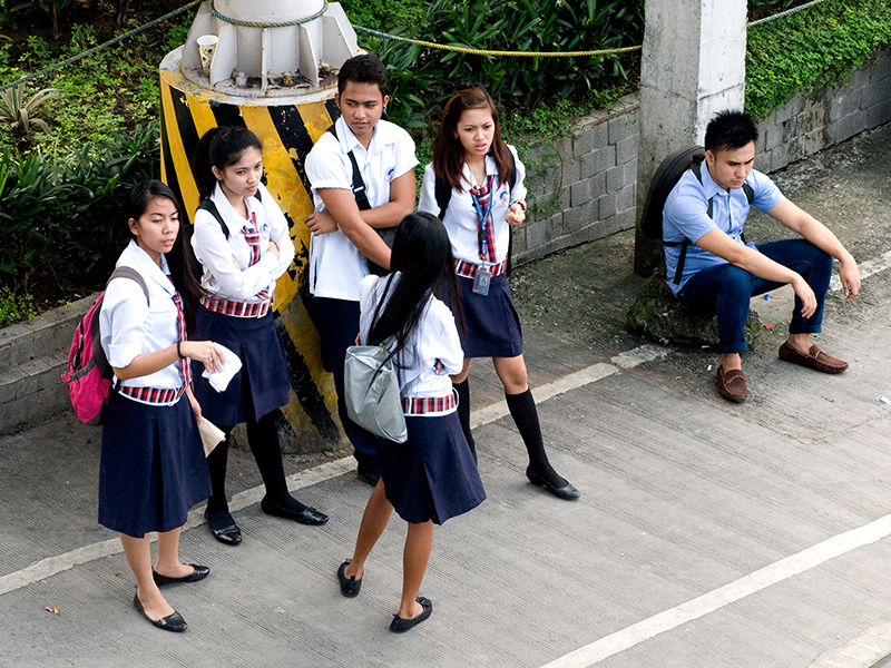
[[[395,273],[395,282],[401,272]],[[359,286],[360,311],[359,332],[361,341],[368,341],[371,320],[374,317],[374,304],[386,286],[388,277],[378,281],[378,276],[366,276]],[[376,285],[375,285],[376,282]],[[372,295],[375,287],[378,296]],[[391,291],[392,291],[391,288]],[[442,371],[437,375],[437,360],[442,362]],[[399,355],[398,374],[400,387],[404,387],[412,379],[418,379],[405,396],[448,396],[452,393],[452,380],[464,364],[464,352],[451,310],[441,301],[431,296],[427,303],[418,327],[409,340],[407,350]],[[444,415],[452,411],[435,413]]]

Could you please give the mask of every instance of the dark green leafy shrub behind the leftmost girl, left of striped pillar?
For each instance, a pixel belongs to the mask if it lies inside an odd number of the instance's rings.
[[[39,268],[63,267],[69,279],[91,284],[91,271],[118,253],[124,204],[133,186],[158,178],[158,125],[85,144],[60,164],[41,154],[0,159],[0,272],[28,292]]]

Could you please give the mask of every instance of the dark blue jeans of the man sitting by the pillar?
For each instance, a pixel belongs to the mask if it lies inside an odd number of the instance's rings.
[[[795,308],[789,324],[791,334],[815,334],[823,323],[823,303],[832,277],[832,256],[805,239],[783,239],[755,246],[777,264],[797,272],[816,296],[816,311],[811,317],[802,317],[801,299],[795,295]],[[717,316],[717,332],[722,353],[742,353],[748,348],[744,328],[748,317],[748,303],[785,285],[766,281],[730,263],[708,267],[694,274],[677,293],[684,306],[702,315]]]

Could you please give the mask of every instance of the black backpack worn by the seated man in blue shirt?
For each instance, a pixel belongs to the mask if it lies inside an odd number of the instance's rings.
[[[687,246],[693,242],[684,239],[683,242],[666,242],[662,238],[662,213],[665,208],[665,200],[668,199],[668,194],[684,176],[684,173],[689,169],[699,183],[703,183],[702,164],[705,160],[705,148],[702,146],[686,146],[673,154],[669,154],[653,174],[653,180],[649,181],[649,189],[647,190],[647,198],[644,204],[644,215],[640,216],[640,229],[644,236],[648,239],[658,239],[663,246],[675,247],[681,246],[681,256],[677,258],[677,271],[675,272],[675,285],[681,283],[681,276],[684,273],[684,259],[687,256]],[[745,193],[748,204],[755,198],[755,191],[747,183],[743,184],[743,193]],[[712,217],[712,199],[708,199],[708,217]],[[745,243],[745,237],[743,237]]]

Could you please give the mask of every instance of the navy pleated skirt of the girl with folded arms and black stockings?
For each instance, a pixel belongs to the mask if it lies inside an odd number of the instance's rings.
[[[207,420],[223,426],[253,424],[287,403],[291,382],[272,311],[263,317],[233,317],[200,307],[195,340],[225,345],[242,361],[241,371],[224,392],[202,377],[204,364],[192,363],[195,399]]]

